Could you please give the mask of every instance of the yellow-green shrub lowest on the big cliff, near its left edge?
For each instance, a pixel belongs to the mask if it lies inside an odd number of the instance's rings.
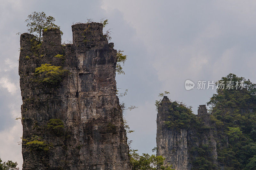
[[[45,141],[42,141],[38,136],[33,136],[31,139],[23,139],[23,141],[26,141],[24,145],[26,145],[30,151],[48,151],[51,146]]]

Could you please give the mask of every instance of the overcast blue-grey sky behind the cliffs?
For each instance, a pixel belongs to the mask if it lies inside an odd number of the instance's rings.
[[[62,41],[72,40],[71,25],[107,17],[115,49],[124,50],[125,75],[117,87],[132,130],[132,148],[152,153],[156,146],[155,100],[159,92],[193,107],[205,104],[215,90],[185,90],[187,79],[216,81],[228,73],[256,82],[256,1],[0,0],[0,156],[22,166],[18,59],[24,20],[33,11],[56,19]],[[121,91],[122,91],[121,90]]]

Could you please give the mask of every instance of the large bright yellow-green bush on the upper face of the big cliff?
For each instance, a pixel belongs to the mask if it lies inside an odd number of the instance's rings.
[[[67,73],[68,70],[64,70],[60,66],[42,64],[41,67],[35,69],[36,82],[56,86],[60,84]]]

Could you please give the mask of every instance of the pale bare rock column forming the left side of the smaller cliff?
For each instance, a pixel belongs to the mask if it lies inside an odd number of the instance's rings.
[[[188,144],[187,129],[170,129],[164,121],[170,114],[169,106],[171,101],[164,96],[156,118],[156,146],[157,155],[165,158],[165,164],[172,165],[173,168],[188,169]]]

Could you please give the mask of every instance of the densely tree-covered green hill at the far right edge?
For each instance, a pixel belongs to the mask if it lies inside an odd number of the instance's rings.
[[[255,169],[256,162],[256,84],[229,74],[220,81],[244,81],[243,88],[218,89],[208,105],[212,121],[218,122],[217,153],[220,166],[228,169]]]

